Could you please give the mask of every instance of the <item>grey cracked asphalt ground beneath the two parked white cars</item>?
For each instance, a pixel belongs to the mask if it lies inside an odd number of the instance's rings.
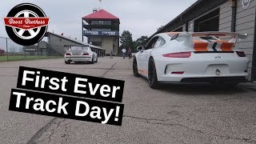
[[[122,126],[8,110],[18,66],[125,81]],[[62,58],[0,62],[0,143],[256,143],[256,86],[163,85],[135,78],[132,60],[66,65]]]

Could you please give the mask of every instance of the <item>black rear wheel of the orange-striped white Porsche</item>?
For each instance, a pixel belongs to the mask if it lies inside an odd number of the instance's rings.
[[[157,71],[155,70],[153,58],[150,58],[150,62],[149,62],[148,81],[152,89],[158,88],[158,76],[157,76]]]

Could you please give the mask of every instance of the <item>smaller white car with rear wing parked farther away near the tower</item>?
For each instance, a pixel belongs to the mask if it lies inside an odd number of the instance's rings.
[[[64,61],[66,64],[70,62],[98,62],[98,55],[90,49],[90,46],[65,46],[67,48],[64,55]]]

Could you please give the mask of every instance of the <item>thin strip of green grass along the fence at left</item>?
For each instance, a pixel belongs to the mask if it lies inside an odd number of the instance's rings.
[[[22,61],[22,60],[36,60],[36,59],[48,59],[48,58],[63,58],[59,56],[24,56],[24,55],[9,55],[8,61]],[[0,56],[0,62],[7,62],[7,56]]]

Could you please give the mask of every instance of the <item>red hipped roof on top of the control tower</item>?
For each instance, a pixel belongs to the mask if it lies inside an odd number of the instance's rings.
[[[113,14],[110,14],[106,10],[98,10],[97,12],[86,15],[85,17],[82,17],[82,18],[83,19],[119,19],[118,17],[114,16]]]

